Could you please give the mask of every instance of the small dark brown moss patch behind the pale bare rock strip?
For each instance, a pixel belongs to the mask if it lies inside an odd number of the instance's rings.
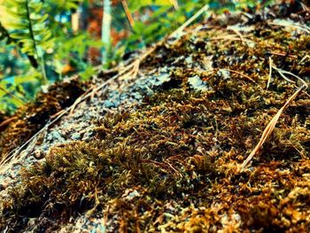
[[[12,116],[12,122],[1,128],[0,160],[26,143],[31,136],[43,128],[53,114],[74,104],[76,98],[85,91],[85,86],[76,79],[55,83],[50,86],[48,93],[40,93],[34,103],[19,108]]]

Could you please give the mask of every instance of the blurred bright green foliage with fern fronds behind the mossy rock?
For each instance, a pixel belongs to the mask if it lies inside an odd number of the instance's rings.
[[[94,2],[100,8],[102,1]],[[261,2],[130,0],[128,8],[135,19],[132,28],[118,4],[113,7],[116,13],[112,12],[112,27],[118,31],[127,29],[128,36],[109,51],[108,66],[120,62],[124,54],[173,32],[205,4],[214,12],[224,12]],[[100,50],[104,44],[84,29],[74,32],[71,22],[73,12],[89,7],[89,1],[0,0],[1,4],[4,7],[0,12],[5,16],[0,19],[0,112],[13,113],[35,97],[43,84],[61,80],[68,65],[74,70],[66,74],[79,74],[82,80],[96,74],[94,64],[89,62],[89,48]]]

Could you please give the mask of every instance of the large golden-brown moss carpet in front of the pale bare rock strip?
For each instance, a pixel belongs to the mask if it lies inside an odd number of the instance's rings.
[[[237,167],[299,84],[274,71],[266,89],[269,58],[309,84],[310,36],[267,19],[247,23],[248,43],[215,24],[159,47],[142,69],[168,66],[170,80],[142,105],[98,120],[91,141],[54,147],[25,169],[0,201],[0,229],[29,230],[32,221],[43,232],[87,212],[103,214],[111,232],[309,231],[308,90],[252,166]],[[190,86],[195,75],[206,90]]]

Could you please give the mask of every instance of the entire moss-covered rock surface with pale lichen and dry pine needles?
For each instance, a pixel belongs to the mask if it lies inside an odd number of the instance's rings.
[[[0,231],[309,232],[309,19],[213,15],[52,85],[0,124]]]

